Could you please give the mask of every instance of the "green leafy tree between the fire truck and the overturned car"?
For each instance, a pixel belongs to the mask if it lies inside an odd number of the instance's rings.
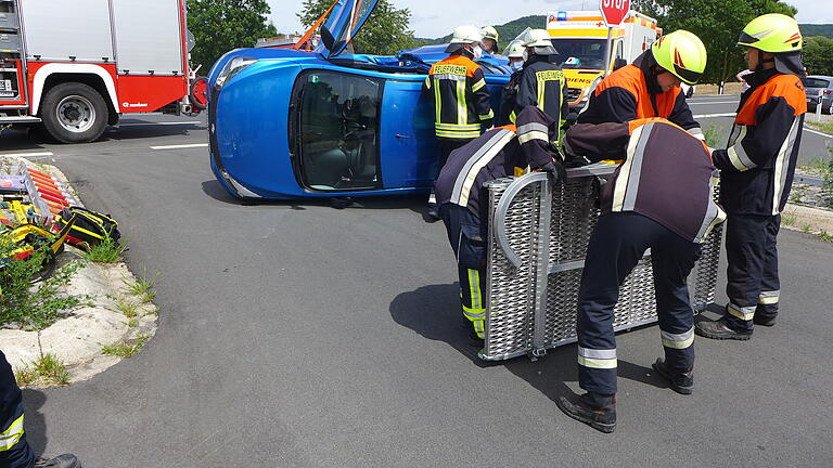
[[[226,52],[275,36],[278,30],[266,20],[270,12],[266,0],[188,0],[188,28],[196,42],[191,65],[202,65],[207,74]]]

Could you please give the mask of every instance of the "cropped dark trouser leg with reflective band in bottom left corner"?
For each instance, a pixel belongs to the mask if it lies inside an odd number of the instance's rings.
[[[23,394],[0,351],[0,468],[29,468],[35,453],[23,432]]]

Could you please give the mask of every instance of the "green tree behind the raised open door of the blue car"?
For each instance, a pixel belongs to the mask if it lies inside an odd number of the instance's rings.
[[[297,13],[304,27],[312,26],[332,0],[304,0],[302,12]],[[393,55],[402,49],[418,47],[413,31],[409,29],[411,11],[397,9],[388,0],[379,0],[368,22],[353,39],[357,52],[379,55]]]

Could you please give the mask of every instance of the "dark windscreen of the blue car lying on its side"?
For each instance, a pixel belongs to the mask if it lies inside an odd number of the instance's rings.
[[[300,80],[299,176],[318,191],[381,186],[379,118],[382,81],[315,70]]]

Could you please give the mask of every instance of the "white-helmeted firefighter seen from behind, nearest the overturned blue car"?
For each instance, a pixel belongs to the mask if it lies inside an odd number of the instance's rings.
[[[479,136],[483,129],[491,127],[495,114],[489,102],[489,90],[483,69],[474,63],[483,53],[482,40],[476,26],[457,27],[451,43],[446,48],[450,55],[435,63],[423,82],[423,94],[434,98],[434,130],[439,143],[437,173],[452,151]],[[433,190],[428,197],[427,216],[439,219]]]

